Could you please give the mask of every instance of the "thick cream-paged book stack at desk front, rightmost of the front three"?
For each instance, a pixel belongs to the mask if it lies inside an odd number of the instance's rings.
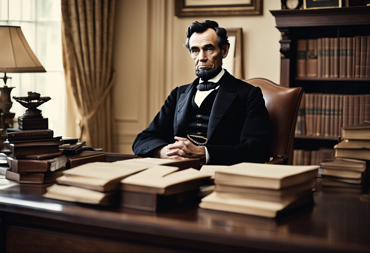
[[[202,199],[201,208],[275,217],[313,203],[319,166],[239,163],[227,167],[216,169],[215,190]]]

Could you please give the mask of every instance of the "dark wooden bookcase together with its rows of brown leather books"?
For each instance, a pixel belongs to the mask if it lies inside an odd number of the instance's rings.
[[[293,165],[334,158],[342,128],[370,121],[370,6],[271,11],[280,84],[303,87]]]

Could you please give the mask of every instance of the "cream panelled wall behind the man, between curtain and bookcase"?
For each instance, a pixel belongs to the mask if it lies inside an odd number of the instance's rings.
[[[194,80],[194,63],[184,48],[187,27],[194,20],[241,27],[245,79],[264,77],[279,83],[280,33],[269,10],[280,9],[280,1],[263,0],[262,16],[228,17],[179,18],[173,0],[120,0],[116,5],[116,152],[132,154],[135,136],[147,127],[169,92]]]

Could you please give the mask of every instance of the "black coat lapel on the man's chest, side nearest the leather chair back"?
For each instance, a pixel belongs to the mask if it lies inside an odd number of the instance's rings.
[[[215,102],[211,111],[211,116],[208,122],[207,139],[211,138],[213,130],[215,130],[218,122],[222,119],[225,112],[230,107],[236,97],[235,93],[235,77],[225,70],[225,77],[222,85],[217,92]]]

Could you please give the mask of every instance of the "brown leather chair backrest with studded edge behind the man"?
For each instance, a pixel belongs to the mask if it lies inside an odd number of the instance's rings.
[[[287,88],[264,78],[252,78],[246,82],[261,88],[269,111],[270,156],[284,154],[288,158],[286,164],[292,165],[295,127],[303,88]]]

